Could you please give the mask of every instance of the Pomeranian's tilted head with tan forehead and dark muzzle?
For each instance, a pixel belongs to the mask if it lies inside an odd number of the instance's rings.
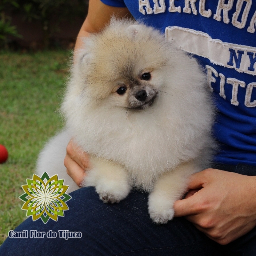
[[[79,86],[110,108],[148,108],[165,80],[168,47],[155,29],[112,19],[102,32],[85,39],[75,64]]]

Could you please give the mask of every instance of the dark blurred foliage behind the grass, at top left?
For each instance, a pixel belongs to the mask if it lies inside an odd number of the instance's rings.
[[[67,47],[87,10],[88,0],[1,0],[0,49]]]

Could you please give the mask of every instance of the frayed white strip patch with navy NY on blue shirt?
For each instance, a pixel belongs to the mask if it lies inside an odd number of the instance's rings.
[[[165,36],[186,52],[207,58],[216,65],[256,76],[256,47],[224,43],[204,32],[177,26],[165,28]]]

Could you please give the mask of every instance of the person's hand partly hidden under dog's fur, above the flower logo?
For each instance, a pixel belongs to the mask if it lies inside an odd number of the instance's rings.
[[[89,168],[89,157],[72,139],[68,142],[64,165],[68,175],[80,187],[86,175],[85,170]]]

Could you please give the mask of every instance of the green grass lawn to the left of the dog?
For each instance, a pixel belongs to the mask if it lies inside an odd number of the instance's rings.
[[[0,244],[26,219],[18,198],[32,178],[39,151],[61,129],[58,115],[69,52],[0,52],[0,144],[9,158],[0,164]]]

